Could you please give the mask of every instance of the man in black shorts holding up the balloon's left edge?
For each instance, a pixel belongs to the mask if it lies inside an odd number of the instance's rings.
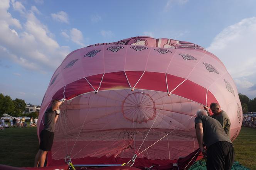
[[[40,146],[35,156],[34,167],[44,167],[44,162],[48,151],[51,151],[55,124],[59,117],[59,106],[64,103],[65,99],[53,100],[51,107],[47,108],[44,113],[44,129],[40,132]]]

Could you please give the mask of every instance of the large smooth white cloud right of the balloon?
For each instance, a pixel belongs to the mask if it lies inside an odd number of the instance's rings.
[[[256,84],[255,39],[256,17],[245,18],[222,30],[206,48],[224,63],[235,79],[238,91],[246,88],[244,93],[254,96],[255,91],[251,94],[249,89]]]

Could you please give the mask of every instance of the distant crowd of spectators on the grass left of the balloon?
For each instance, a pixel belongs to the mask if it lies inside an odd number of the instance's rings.
[[[30,124],[29,126],[37,126],[37,117],[33,119],[33,117],[30,118]],[[17,117],[17,118],[10,118],[9,119],[10,123],[5,123],[5,119],[2,117],[1,122],[0,122],[0,130],[3,130],[5,128],[10,128],[10,127],[27,127],[27,122],[25,121],[25,117]]]

